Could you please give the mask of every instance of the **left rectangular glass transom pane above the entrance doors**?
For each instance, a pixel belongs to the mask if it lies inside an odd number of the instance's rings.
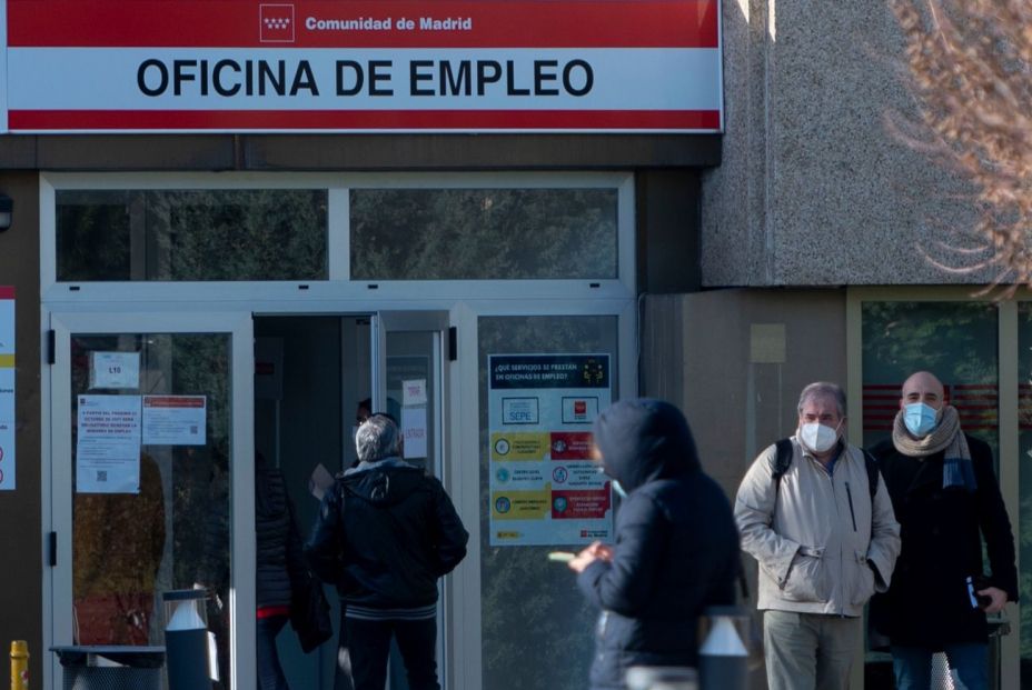
[[[325,280],[325,190],[57,192],[57,278]]]

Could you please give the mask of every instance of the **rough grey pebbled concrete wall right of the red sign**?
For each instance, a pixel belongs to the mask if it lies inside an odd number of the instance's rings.
[[[966,189],[886,122],[915,112],[885,2],[725,0],[723,162],[703,180],[703,286],[985,282],[959,273]]]

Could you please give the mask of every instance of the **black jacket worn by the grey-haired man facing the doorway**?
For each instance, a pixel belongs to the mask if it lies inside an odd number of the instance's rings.
[[[349,604],[418,608],[437,601],[437,579],[463,560],[468,539],[440,482],[387,458],[338,477],[305,556]]]

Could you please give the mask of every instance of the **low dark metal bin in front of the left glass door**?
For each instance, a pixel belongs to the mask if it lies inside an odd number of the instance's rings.
[[[161,690],[163,647],[51,647],[64,690]]]

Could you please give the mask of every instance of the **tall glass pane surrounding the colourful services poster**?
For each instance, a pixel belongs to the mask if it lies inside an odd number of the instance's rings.
[[[480,617],[483,687],[492,690],[583,688],[594,652],[594,610],[576,576],[548,560],[556,548],[492,547],[488,449],[489,354],[608,353],[613,399],[616,317],[485,317],[478,321],[480,390]],[[533,662],[528,662],[533,660]]]

